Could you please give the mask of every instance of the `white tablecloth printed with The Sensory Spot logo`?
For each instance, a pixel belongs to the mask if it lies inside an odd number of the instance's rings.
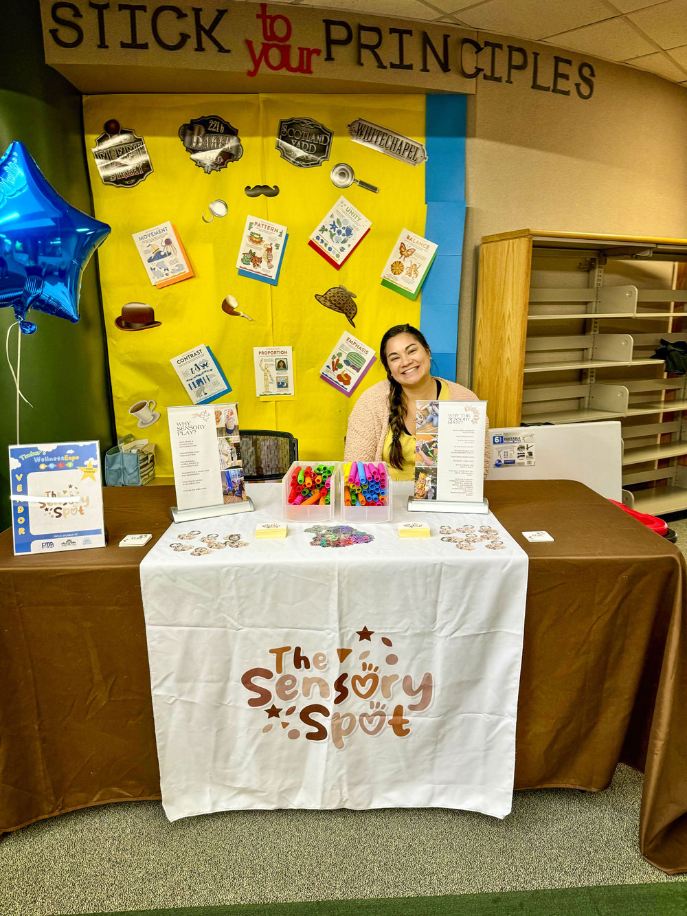
[[[239,808],[510,812],[527,555],[494,516],[409,513],[408,494],[397,485],[393,522],[354,526],[362,542],[323,548],[321,533],[292,523],[285,540],[256,540],[258,522],[280,518],[280,491],[252,485],[256,512],[172,525],[148,552],[170,820]],[[409,520],[428,521],[431,538],[400,539]],[[442,540],[440,526],[467,525],[502,543],[470,529],[453,537],[474,550]],[[211,549],[209,534],[247,546]]]

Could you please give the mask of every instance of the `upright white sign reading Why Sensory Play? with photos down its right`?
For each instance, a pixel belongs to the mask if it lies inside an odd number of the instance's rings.
[[[172,521],[252,512],[255,507],[249,497],[224,502],[223,474],[229,486],[234,485],[235,479],[243,485],[243,468],[234,450],[239,441],[236,405],[169,407],[167,413],[179,503],[169,509]]]

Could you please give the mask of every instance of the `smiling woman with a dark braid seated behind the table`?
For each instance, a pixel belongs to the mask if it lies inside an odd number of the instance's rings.
[[[478,398],[469,388],[431,375],[430,347],[420,331],[410,324],[397,324],[388,329],[379,344],[379,356],[387,370],[387,381],[369,387],[351,411],[344,461],[385,461],[392,480],[413,480],[415,402]],[[485,476],[488,470],[487,420]]]

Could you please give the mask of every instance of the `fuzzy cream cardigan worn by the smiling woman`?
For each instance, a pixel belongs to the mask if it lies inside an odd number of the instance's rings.
[[[440,378],[442,386],[449,389],[451,400],[478,400],[470,388],[447,382]],[[388,431],[388,395],[389,383],[385,379],[367,388],[348,418],[344,461],[381,461],[384,441]],[[485,432],[485,477],[489,473],[489,420],[486,420]]]

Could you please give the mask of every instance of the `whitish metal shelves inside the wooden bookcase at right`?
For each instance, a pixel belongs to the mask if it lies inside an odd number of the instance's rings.
[[[685,381],[651,358],[661,339],[687,341],[687,289],[676,288],[687,245],[683,257],[587,254],[534,244],[521,421],[620,420],[626,504],[687,510]]]

